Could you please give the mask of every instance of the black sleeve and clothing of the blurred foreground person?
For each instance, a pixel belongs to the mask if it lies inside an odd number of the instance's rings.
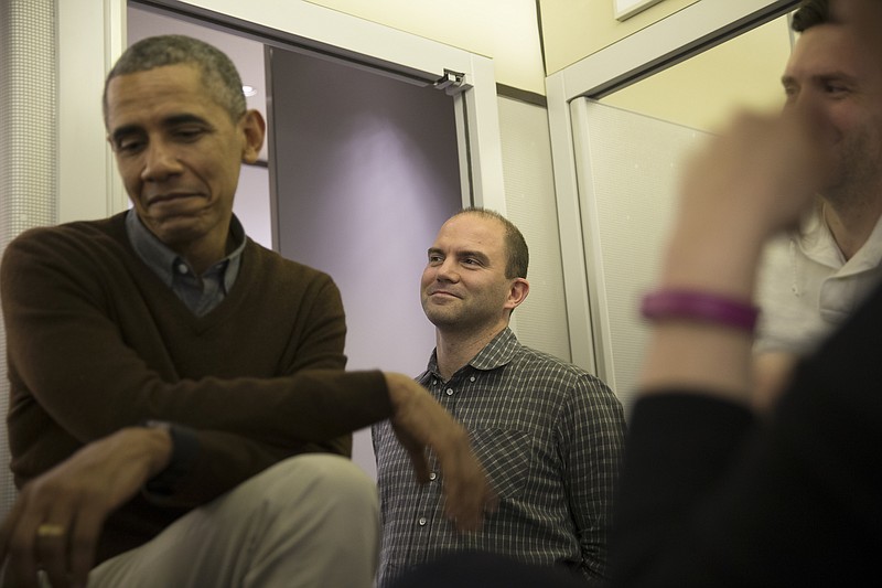
[[[614,585],[874,584],[881,325],[876,291],[799,365],[767,421],[701,391],[638,400],[611,546]]]

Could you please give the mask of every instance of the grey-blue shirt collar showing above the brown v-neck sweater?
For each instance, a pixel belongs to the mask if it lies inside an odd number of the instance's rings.
[[[135,210],[129,210],[126,216],[126,233],[138,257],[153,270],[157,276],[171,288],[175,268],[181,264],[186,264],[180,255],[174,253],[168,245],[159,240],[159,238],[148,229],[138,216]],[[239,266],[241,264],[241,254],[245,250],[245,229],[241,223],[234,214],[229,223],[229,233],[233,236],[233,242],[236,248],[219,259],[212,267],[217,267],[217,264],[226,264],[224,272],[224,287],[227,291],[233,288],[236,277],[239,274]]]

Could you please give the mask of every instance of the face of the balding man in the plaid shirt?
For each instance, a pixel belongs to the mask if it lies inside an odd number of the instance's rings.
[[[518,303],[505,277],[504,226],[460,214],[441,227],[420,282],[422,309],[439,329],[502,329]]]

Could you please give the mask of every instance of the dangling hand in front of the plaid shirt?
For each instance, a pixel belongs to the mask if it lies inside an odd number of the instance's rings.
[[[429,448],[444,474],[448,517],[460,531],[478,528],[484,512],[496,507],[496,495],[472,453],[469,434],[413,379],[404,374],[385,375],[395,411],[392,429],[410,455],[417,480],[429,481]]]

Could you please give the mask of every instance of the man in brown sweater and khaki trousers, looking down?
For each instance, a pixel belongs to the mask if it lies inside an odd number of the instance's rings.
[[[233,215],[265,122],[226,55],[143,40],[104,108],[132,211],[30,231],[0,267],[7,582],[370,586],[376,490],[340,455],[385,418],[418,477],[437,453],[448,515],[476,527],[493,499],[463,429],[408,376],[344,372],[333,281]]]

